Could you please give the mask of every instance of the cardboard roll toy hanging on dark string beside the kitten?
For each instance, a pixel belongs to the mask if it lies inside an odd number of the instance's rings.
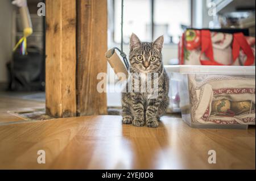
[[[126,58],[125,52],[123,52],[123,0],[121,3],[121,49],[114,47],[112,49],[109,49],[105,53],[105,57],[107,58],[110,66],[112,69],[114,69],[115,74],[118,73],[124,73],[126,75],[126,78],[128,77],[128,70],[129,70],[129,62]],[[120,53],[120,56],[123,58],[122,60],[119,58],[117,52],[115,50],[118,50]],[[123,64],[124,63],[124,64]],[[121,79],[122,77],[119,77],[120,81],[125,81],[126,79]]]

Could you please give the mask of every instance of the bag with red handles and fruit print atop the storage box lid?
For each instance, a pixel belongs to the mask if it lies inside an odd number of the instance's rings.
[[[255,65],[255,37],[190,29],[181,37],[179,60],[185,65]]]

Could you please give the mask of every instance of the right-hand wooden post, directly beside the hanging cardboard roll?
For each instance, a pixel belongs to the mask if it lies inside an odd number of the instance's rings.
[[[107,1],[77,0],[77,113],[106,114],[106,93],[96,89],[106,73]]]

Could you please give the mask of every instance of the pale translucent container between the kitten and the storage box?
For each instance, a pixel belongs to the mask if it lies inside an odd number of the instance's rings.
[[[164,66],[169,77],[169,98],[170,103],[167,109],[168,113],[180,113],[180,95],[179,95],[179,75],[176,73],[179,72],[179,65],[166,65]]]

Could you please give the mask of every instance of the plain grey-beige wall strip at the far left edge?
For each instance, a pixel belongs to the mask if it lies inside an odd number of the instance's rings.
[[[10,61],[11,47],[11,22],[13,5],[10,0],[0,1],[0,82],[7,82],[6,62]]]

